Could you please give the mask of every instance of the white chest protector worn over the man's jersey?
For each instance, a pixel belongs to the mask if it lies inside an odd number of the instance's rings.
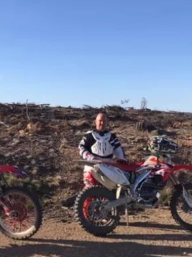
[[[111,134],[106,133],[104,136],[100,136],[97,132],[92,133],[96,142],[92,145],[91,150],[93,154],[97,154],[101,157],[113,154],[113,146],[109,143]]]

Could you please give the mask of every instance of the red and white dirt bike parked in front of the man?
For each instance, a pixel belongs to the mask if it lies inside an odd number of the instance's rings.
[[[191,172],[192,166],[174,165],[169,154],[164,154],[163,158],[160,160],[150,155],[143,162],[128,165],[79,160],[92,166],[91,173],[95,179],[95,185],[84,188],[75,200],[75,217],[82,228],[96,236],[112,232],[119,223],[122,207],[125,210],[154,208],[160,191],[170,180],[174,185],[171,214],[181,227],[192,231],[192,216],[191,223],[181,216],[181,211],[192,214],[192,183],[182,184],[177,177],[178,171]]]

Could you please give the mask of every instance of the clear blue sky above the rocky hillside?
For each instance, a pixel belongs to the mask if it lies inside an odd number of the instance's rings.
[[[192,111],[191,0],[6,0],[0,102]]]

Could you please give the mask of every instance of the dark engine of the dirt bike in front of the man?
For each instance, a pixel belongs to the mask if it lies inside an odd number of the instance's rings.
[[[157,200],[157,192],[165,187],[161,175],[154,175],[140,184],[139,194],[145,202],[153,203]]]

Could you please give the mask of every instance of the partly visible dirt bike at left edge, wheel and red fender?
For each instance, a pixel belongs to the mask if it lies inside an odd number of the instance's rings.
[[[21,240],[34,235],[42,224],[42,208],[35,193],[24,186],[9,187],[6,174],[27,178],[25,171],[14,166],[0,166],[0,230],[6,236]]]

